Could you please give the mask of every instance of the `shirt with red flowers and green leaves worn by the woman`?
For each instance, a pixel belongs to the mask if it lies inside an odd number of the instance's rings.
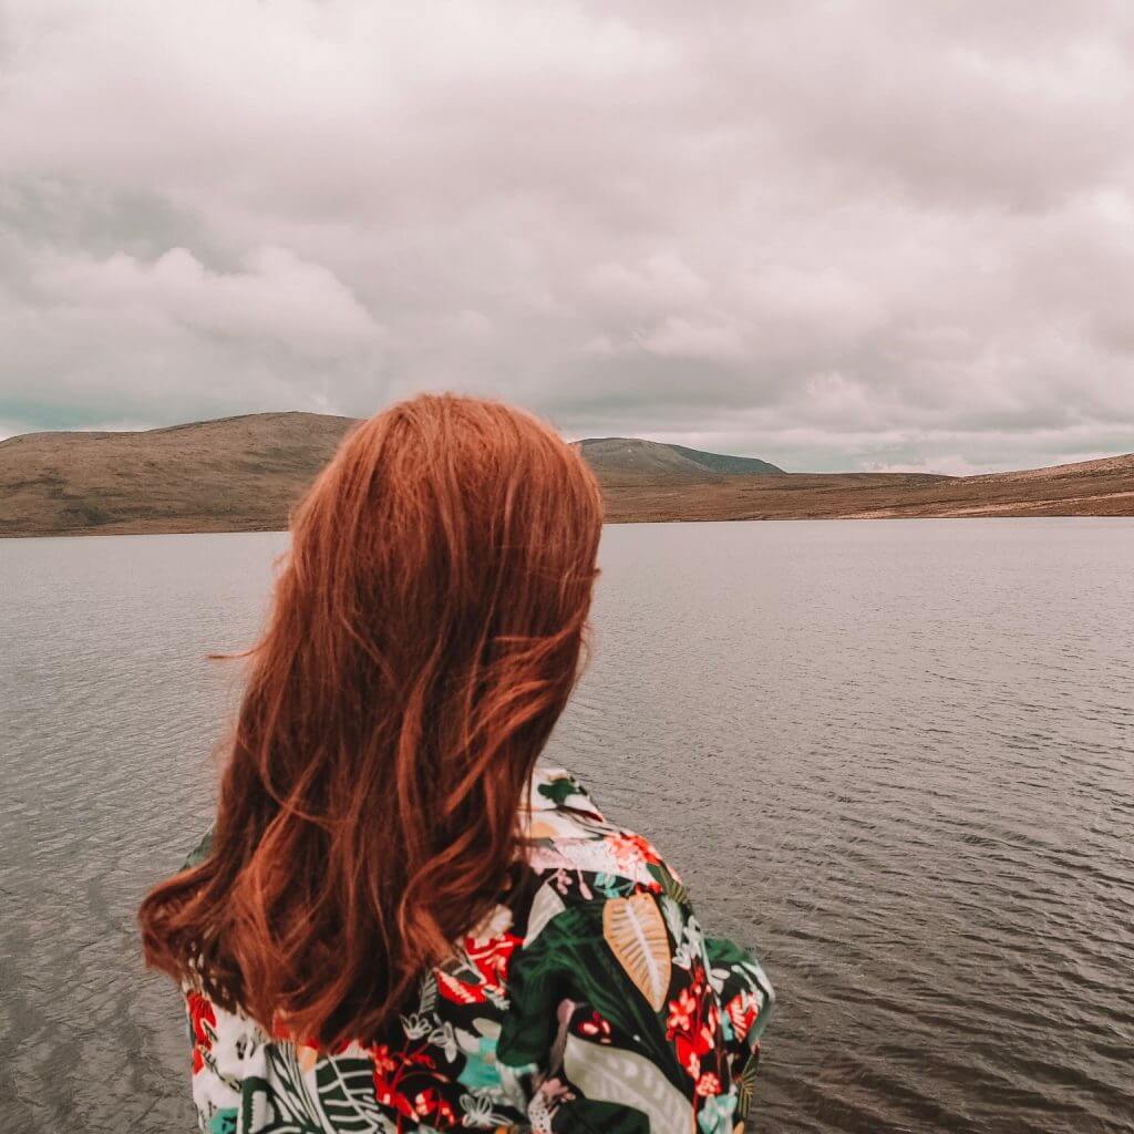
[[[569,772],[538,769],[523,818],[527,885],[376,1041],[316,1050],[186,987],[201,1131],[733,1134],[773,1002],[760,964],[704,937],[677,874]]]

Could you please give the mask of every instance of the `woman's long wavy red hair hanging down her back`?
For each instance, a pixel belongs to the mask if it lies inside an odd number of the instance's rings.
[[[293,517],[211,850],[143,902],[146,963],[325,1047],[376,1034],[523,853],[601,527],[523,411],[422,395],[355,429]]]

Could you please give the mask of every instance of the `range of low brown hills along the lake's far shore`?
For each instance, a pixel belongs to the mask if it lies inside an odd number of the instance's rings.
[[[251,414],[136,433],[11,438],[0,442],[0,536],[280,530],[355,424]],[[633,438],[578,445],[615,523],[1134,515],[1134,454],[951,477],[784,473],[752,457]]]

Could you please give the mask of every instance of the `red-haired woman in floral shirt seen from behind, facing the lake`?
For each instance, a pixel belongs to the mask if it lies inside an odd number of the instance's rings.
[[[202,1131],[743,1122],[759,965],[536,765],[601,525],[577,450],[450,395],[363,423],[307,493],[214,829],[139,913]]]

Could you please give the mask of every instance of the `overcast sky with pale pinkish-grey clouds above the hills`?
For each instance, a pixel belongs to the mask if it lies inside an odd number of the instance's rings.
[[[0,437],[420,389],[1134,450],[1134,3],[0,0]]]

